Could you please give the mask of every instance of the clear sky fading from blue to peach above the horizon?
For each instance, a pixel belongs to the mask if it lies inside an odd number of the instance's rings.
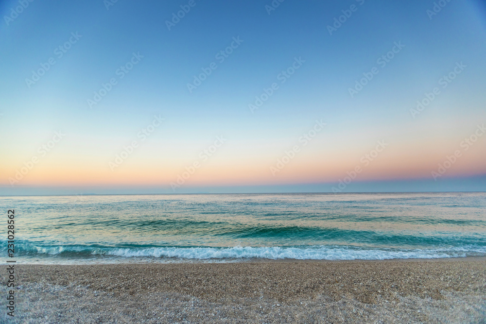
[[[0,14],[0,195],[486,190],[483,1]]]

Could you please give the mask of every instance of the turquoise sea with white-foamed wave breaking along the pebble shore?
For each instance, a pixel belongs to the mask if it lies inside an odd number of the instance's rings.
[[[15,209],[18,263],[486,256],[486,193],[29,196],[0,205],[5,224]]]

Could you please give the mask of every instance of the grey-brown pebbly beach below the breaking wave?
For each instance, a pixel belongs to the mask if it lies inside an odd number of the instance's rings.
[[[16,282],[1,323],[486,323],[486,258],[16,265]]]

